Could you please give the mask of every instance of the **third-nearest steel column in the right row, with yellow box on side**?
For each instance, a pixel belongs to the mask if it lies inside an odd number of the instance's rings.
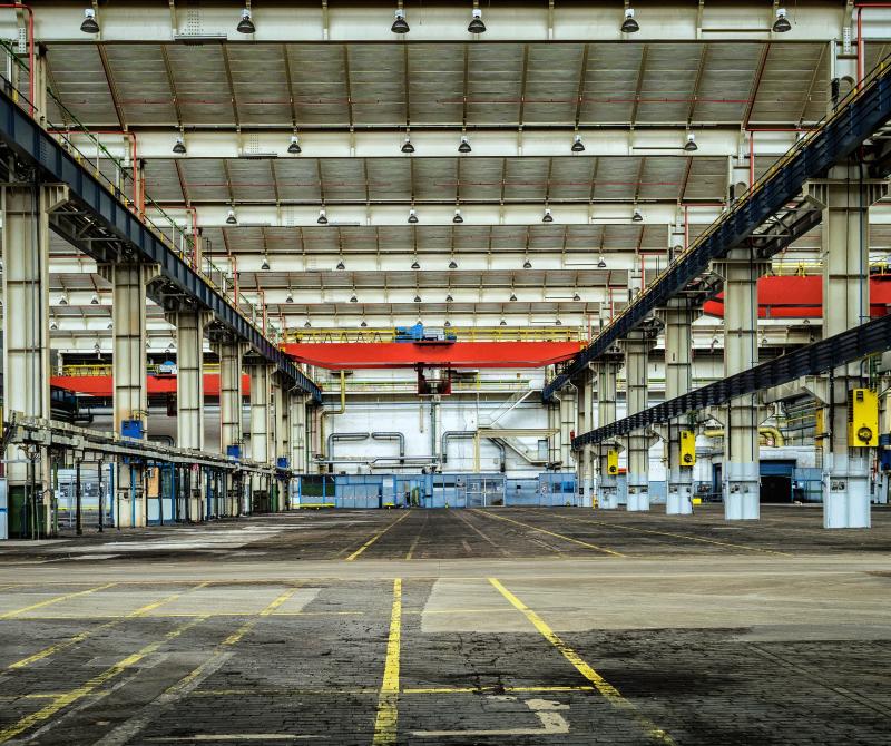
[[[686,297],[672,298],[659,310],[665,324],[665,399],[686,394],[693,385],[691,324],[699,312]],[[681,463],[681,430],[688,418],[674,418],[668,423],[668,479],[665,512],[687,516],[693,512],[693,467]]]

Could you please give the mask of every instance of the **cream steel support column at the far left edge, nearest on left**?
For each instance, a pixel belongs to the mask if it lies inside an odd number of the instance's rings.
[[[3,411],[50,416],[49,213],[68,200],[60,185],[2,189]],[[42,537],[50,527],[50,469],[46,448],[6,451],[9,504],[23,519],[11,536]],[[19,512],[20,511],[20,512]]]

